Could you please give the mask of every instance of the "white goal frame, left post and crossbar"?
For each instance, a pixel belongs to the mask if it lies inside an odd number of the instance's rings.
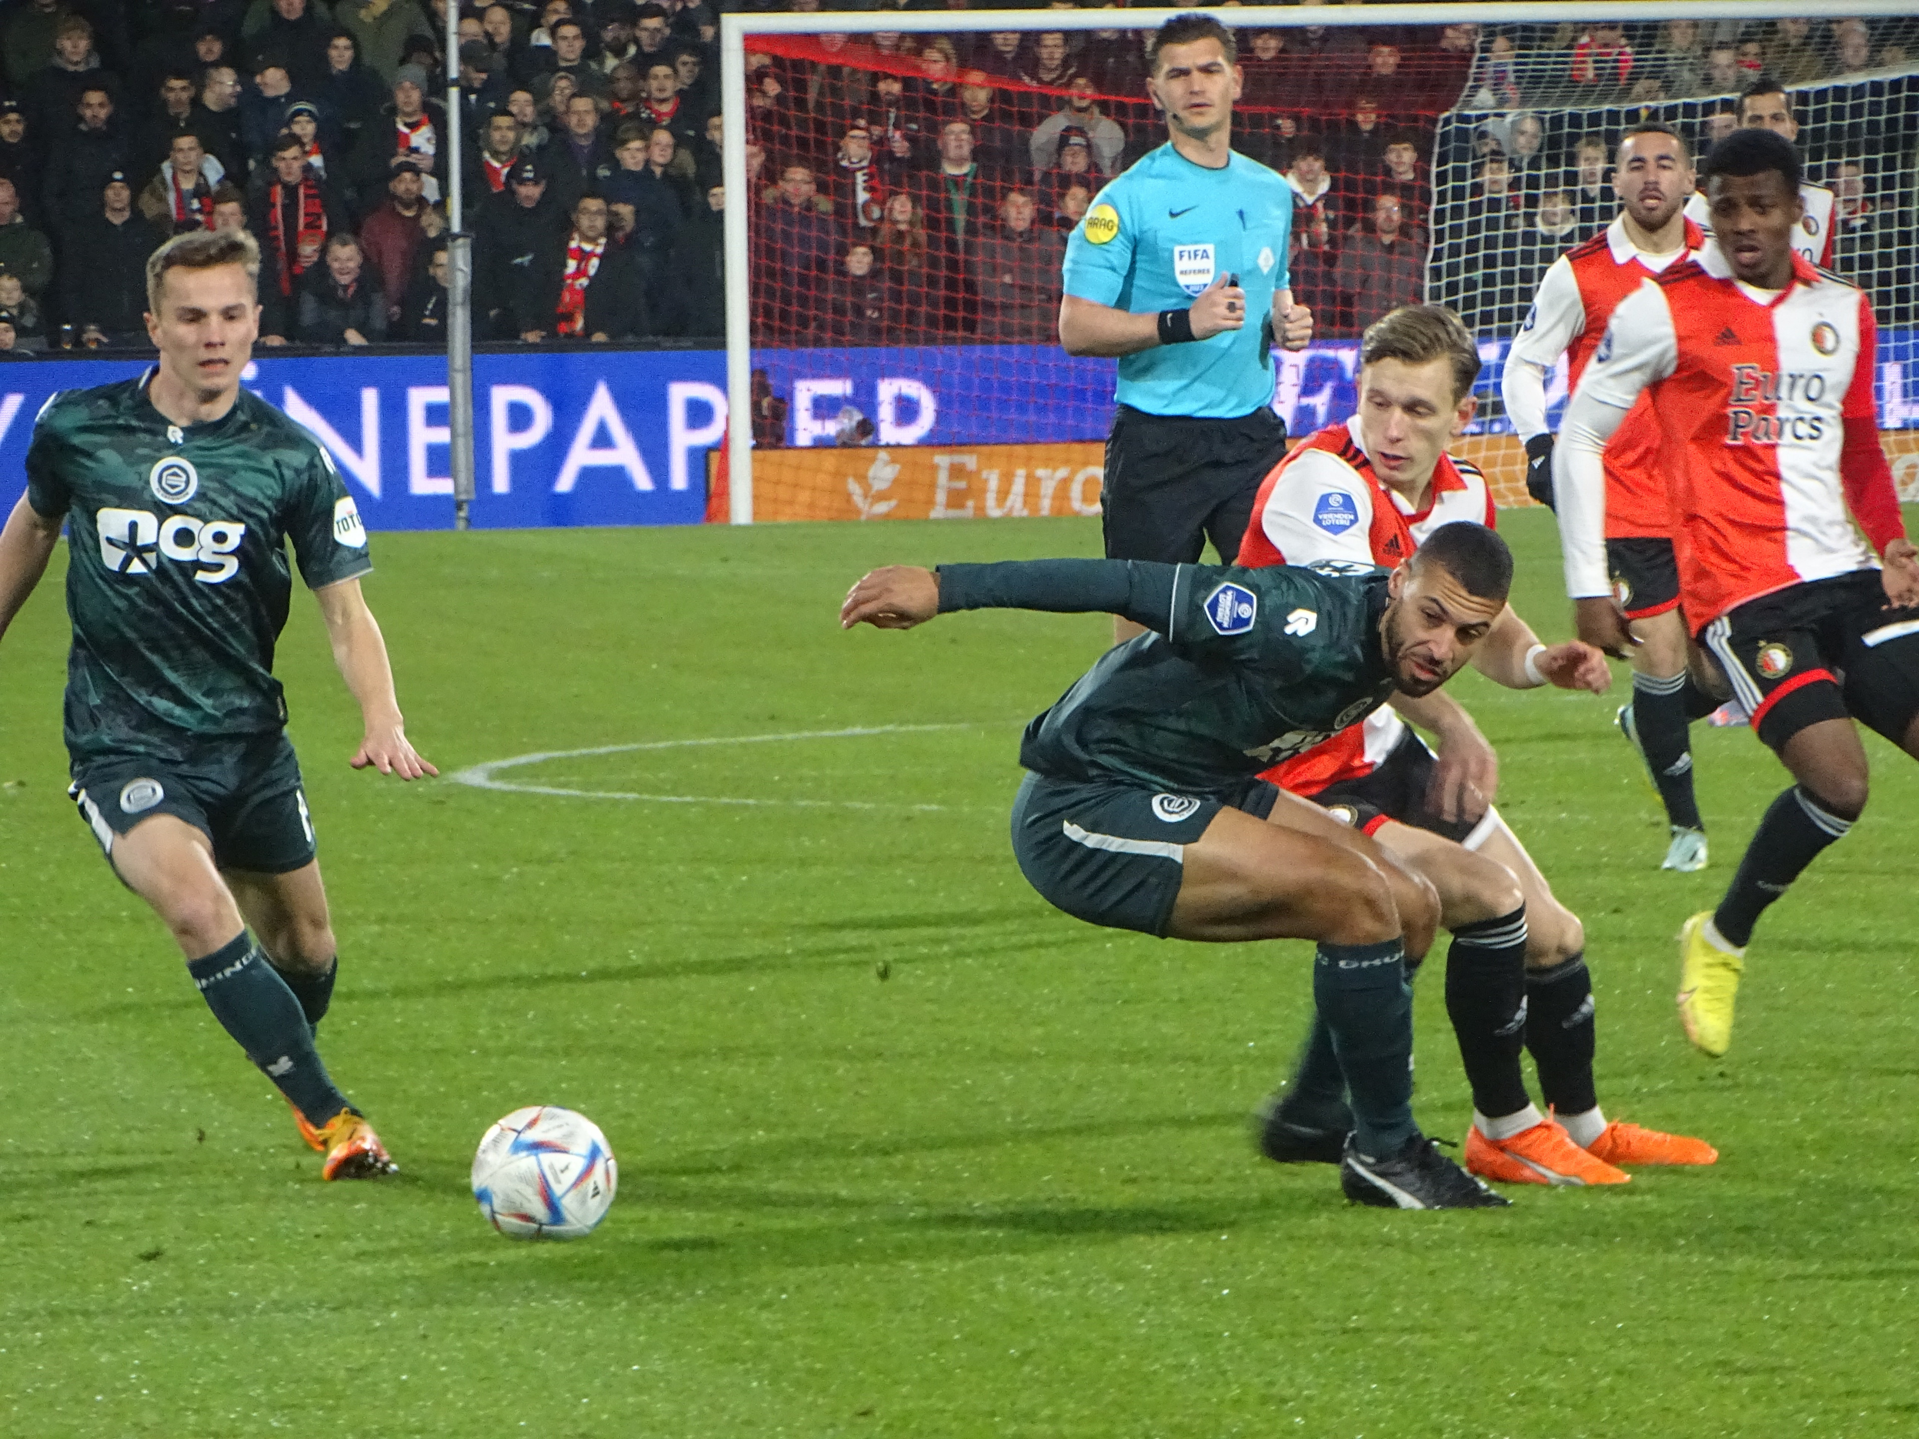
[[[1149,31],[1192,8],[1171,10],[938,10],[938,12],[810,12],[725,13],[720,17],[720,83],[725,113],[725,345],[727,345],[727,478],[729,518],[750,524],[752,484],[752,303],[748,265],[746,178],[746,38],[752,35],[956,35],[992,31]],[[1445,27],[1445,25],[1591,25],[1618,21],[1645,25],[1668,19],[1700,23],[1754,23],[1800,19],[1806,0],[1608,0],[1604,4],[1380,4],[1380,6],[1236,6],[1207,10],[1234,31],[1305,27]],[[1911,19],[1909,0],[1848,0],[1844,15],[1861,19]],[[1919,59],[1919,54],[1915,54]]]

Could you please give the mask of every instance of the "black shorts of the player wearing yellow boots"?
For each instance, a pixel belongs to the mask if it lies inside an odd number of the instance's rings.
[[[1919,714],[1919,608],[1888,610],[1879,570],[1760,595],[1700,631],[1773,750],[1821,720],[1894,744]]]

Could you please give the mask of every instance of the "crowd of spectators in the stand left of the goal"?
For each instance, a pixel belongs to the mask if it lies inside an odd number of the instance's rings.
[[[443,340],[462,171],[480,340],[716,336],[704,6],[13,0],[0,10],[0,351],[144,347],[146,257],[259,240],[267,345]]]

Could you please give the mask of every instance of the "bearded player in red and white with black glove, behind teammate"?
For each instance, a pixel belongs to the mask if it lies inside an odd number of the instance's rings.
[[[1700,228],[1681,213],[1693,182],[1685,140],[1666,125],[1635,125],[1620,140],[1612,171],[1618,219],[1552,261],[1539,280],[1499,384],[1512,430],[1526,441],[1526,487],[1543,505],[1552,503],[1547,376],[1566,355],[1566,388],[1574,389],[1606,334],[1614,305],[1704,244]],[[1664,445],[1645,399],[1606,445],[1606,562],[1637,641],[1633,702],[1620,710],[1620,729],[1639,748],[1666,806],[1671,838],[1660,867],[1693,871],[1706,867],[1706,825],[1693,796],[1687,725],[1710,714],[1716,702],[1704,702],[1702,691],[1687,685]],[[1698,716],[1691,714],[1694,708]]]

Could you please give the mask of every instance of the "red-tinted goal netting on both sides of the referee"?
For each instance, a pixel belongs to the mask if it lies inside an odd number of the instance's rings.
[[[1148,38],[748,36],[754,345],[1052,343],[1067,232],[1167,138]],[[1338,226],[1384,194],[1418,240],[1472,27],[1259,31],[1240,46],[1234,148],[1278,171],[1320,152],[1301,167],[1293,288],[1320,334],[1355,332],[1372,317],[1336,282]]]

